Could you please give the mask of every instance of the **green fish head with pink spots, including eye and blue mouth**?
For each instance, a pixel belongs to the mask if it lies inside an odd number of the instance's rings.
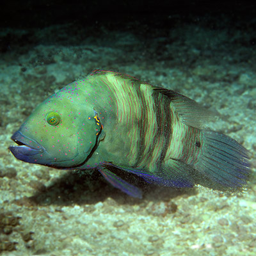
[[[42,102],[15,132],[10,147],[19,160],[52,166],[82,166],[97,147],[102,131],[93,104],[74,82]],[[93,167],[93,166],[91,166]]]

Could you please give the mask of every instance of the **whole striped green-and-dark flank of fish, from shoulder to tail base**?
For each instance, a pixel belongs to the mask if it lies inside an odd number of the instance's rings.
[[[165,165],[170,159],[195,163],[202,151],[196,147],[202,143],[200,130],[180,122],[168,95],[120,73],[105,72],[100,80],[112,92],[116,104],[115,132],[124,138],[124,148],[129,148],[124,150],[129,166],[161,172],[172,168]]]

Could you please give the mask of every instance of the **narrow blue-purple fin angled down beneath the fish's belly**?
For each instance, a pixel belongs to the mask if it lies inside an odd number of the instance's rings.
[[[112,186],[115,188],[118,188],[122,190],[124,193],[126,193],[129,196],[136,197],[136,198],[142,198],[140,189],[136,188],[135,186],[132,186],[125,180],[121,179],[117,175],[115,175],[113,172],[110,172],[107,169],[98,169],[99,172],[102,174],[102,176],[108,180]]]

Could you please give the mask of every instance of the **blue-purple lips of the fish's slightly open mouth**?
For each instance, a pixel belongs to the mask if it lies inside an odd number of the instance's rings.
[[[11,139],[17,144],[15,146],[10,146],[9,150],[12,152],[13,156],[21,161],[28,163],[35,162],[35,156],[42,154],[45,148],[39,143],[31,138],[24,136],[20,131],[13,134]]]

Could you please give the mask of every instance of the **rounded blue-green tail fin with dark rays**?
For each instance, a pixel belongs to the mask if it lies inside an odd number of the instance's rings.
[[[250,174],[248,158],[246,148],[236,140],[202,130],[202,156],[195,164],[199,183],[220,190],[243,188]]]

